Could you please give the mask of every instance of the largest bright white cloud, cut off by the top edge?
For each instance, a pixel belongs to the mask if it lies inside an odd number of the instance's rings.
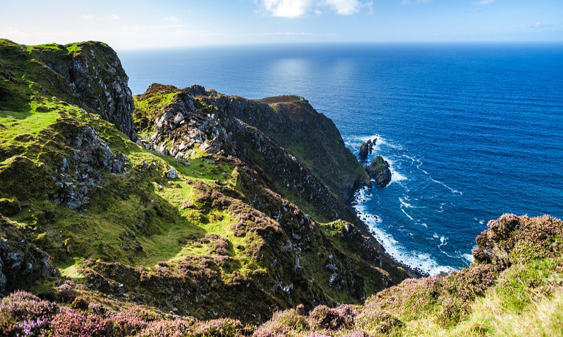
[[[260,8],[257,12],[278,17],[301,17],[310,12],[321,15],[323,8],[339,15],[352,15],[362,8],[373,7],[373,2],[361,0],[254,0]]]

